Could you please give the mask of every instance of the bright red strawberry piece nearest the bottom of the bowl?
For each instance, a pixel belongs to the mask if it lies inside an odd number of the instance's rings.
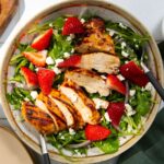
[[[90,141],[99,141],[106,139],[112,131],[99,125],[87,125],[85,127],[85,137]]]

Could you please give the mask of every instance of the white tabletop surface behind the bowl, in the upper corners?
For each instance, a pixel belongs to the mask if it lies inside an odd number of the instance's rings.
[[[19,10],[10,23],[5,33],[0,37],[0,51],[1,56],[5,50],[5,45],[12,38],[17,28],[25,24],[34,14],[42,11],[54,3],[61,0],[20,0]],[[80,1],[80,0],[79,0]],[[82,0],[81,0],[82,1]],[[153,34],[156,40],[164,39],[164,32],[162,33],[162,20],[164,19],[164,0],[109,0],[113,3],[126,9],[138,17]],[[5,42],[5,44],[3,44]],[[0,124],[8,125],[4,119],[0,106]],[[3,121],[4,120],[4,121]],[[109,162],[106,162],[109,163]],[[54,162],[55,164],[55,162]]]

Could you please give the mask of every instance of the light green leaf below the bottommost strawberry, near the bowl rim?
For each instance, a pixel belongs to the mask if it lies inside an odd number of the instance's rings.
[[[95,147],[101,149],[104,153],[115,153],[119,149],[118,138],[108,138],[104,141],[98,141],[93,143]]]

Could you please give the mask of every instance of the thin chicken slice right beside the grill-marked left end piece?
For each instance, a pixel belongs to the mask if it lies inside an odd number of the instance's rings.
[[[52,118],[54,124],[56,126],[56,132],[67,129],[66,122],[63,122],[57,115],[50,113],[48,110],[46,104],[43,101],[37,98],[35,102],[35,105],[37,107],[39,107],[40,109],[43,109],[45,113],[47,113]]]

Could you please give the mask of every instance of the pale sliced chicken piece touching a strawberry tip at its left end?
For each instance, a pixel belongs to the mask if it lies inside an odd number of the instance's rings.
[[[77,67],[87,70],[97,70],[101,73],[117,73],[120,66],[120,60],[117,56],[105,52],[93,52],[82,55],[81,61]]]

